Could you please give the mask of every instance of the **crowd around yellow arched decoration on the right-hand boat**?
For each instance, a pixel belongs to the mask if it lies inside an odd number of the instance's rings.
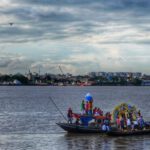
[[[140,110],[135,106],[122,103],[115,107],[113,113],[113,121],[118,130],[135,131],[149,129],[149,122],[145,122]]]

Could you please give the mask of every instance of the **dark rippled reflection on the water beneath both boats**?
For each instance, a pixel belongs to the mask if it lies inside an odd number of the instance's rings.
[[[105,134],[66,133],[61,137],[66,149],[137,150],[149,149],[150,135],[109,137]]]

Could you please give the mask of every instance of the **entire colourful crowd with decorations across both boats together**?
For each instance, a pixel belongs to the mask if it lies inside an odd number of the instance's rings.
[[[75,117],[76,120],[74,123],[76,125],[95,126],[104,131],[109,131],[112,125],[115,125],[116,128],[121,131],[142,130],[146,126],[140,110],[137,112],[134,107],[130,106],[130,108],[128,108],[127,104],[123,103],[120,106],[118,105],[119,107],[116,109],[117,113],[114,112],[117,115],[114,117],[113,113],[107,112],[104,114],[99,107],[93,108],[93,98],[89,98],[89,96],[90,95],[88,95],[86,100],[82,100],[80,114],[73,113],[71,108],[68,109],[68,123],[72,124],[73,117]],[[132,111],[132,109],[134,111]],[[83,117],[84,119],[91,117],[91,120],[85,123]]]

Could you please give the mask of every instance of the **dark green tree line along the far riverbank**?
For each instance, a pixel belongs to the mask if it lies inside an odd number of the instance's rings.
[[[22,74],[14,74],[14,75],[1,75],[0,76],[0,83],[4,82],[10,82],[13,83],[14,80],[18,80],[23,85],[34,85],[38,83],[43,83],[47,85],[80,85],[85,82],[91,83],[90,85],[97,85],[97,86],[128,86],[128,85],[134,85],[134,86],[140,86],[142,84],[142,79],[140,78],[124,78],[124,77],[112,77],[107,78],[103,76],[97,76],[97,77],[90,77],[90,76],[74,76],[74,77],[66,77],[66,76],[54,76],[51,77],[49,74],[45,75],[36,75],[32,78],[28,78]],[[73,84],[74,83],[74,84]]]

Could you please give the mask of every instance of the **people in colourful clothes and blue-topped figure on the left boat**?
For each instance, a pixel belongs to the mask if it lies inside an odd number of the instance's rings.
[[[73,118],[75,117],[76,125],[84,125],[84,126],[95,126],[99,127],[102,130],[110,130],[110,122],[111,122],[111,114],[107,112],[105,115],[103,111],[99,107],[93,108],[93,98],[88,95],[86,100],[82,100],[81,102],[81,113],[75,114],[72,109],[68,109],[68,123],[73,123]],[[91,120],[90,120],[91,118]],[[85,122],[85,120],[88,120]]]

